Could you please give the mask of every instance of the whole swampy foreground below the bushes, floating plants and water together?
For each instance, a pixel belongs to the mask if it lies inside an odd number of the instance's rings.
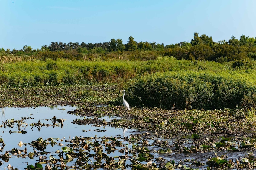
[[[72,89],[67,86],[62,86],[62,89],[44,87],[42,93],[32,87],[32,92],[28,93],[24,89],[19,92],[10,90],[8,93],[13,99],[1,100],[1,105],[8,105],[8,102],[12,107],[35,105],[28,109],[27,116],[20,118],[5,118],[8,109],[1,112],[5,114],[0,125],[3,129],[0,136],[0,167],[154,170],[256,168],[255,110],[238,107],[223,110],[131,107],[127,112],[121,107],[122,96],[118,96],[118,89],[89,91],[85,87],[89,86],[83,86],[84,89],[76,85]],[[45,92],[48,93],[46,97],[43,96]],[[38,98],[31,101],[33,93],[38,94]],[[18,96],[21,96],[19,100]],[[47,102],[61,103],[61,100],[62,104],[75,104],[76,109],[49,107],[54,110],[52,114],[35,118],[37,110],[40,110],[37,106]],[[104,107],[98,107],[99,104]],[[57,111],[61,114],[55,114]],[[46,115],[46,112],[40,113],[40,116]],[[65,116],[73,116],[73,119]],[[77,130],[70,131],[71,125]],[[136,130],[131,133],[130,129]],[[41,132],[43,136],[40,136]],[[6,137],[6,134],[10,136]],[[13,144],[9,138],[17,138],[17,141]],[[25,163],[17,165],[13,161],[17,159]]]

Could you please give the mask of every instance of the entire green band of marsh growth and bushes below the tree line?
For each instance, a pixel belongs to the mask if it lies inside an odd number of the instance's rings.
[[[127,90],[131,106],[165,109],[215,109],[256,106],[255,63],[176,60],[22,61],[4,63],[0,85],[35,87],[115,83]],[[84,91],[82,91],[84,93]],[[88,94],[89,95],[89,94]]]

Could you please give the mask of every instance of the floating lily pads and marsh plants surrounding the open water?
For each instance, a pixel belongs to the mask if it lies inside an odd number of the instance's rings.
[[[38,138],[23,144],[37,152],[14,147],[0,155],[2,161],[15,156],[37,157],[35,164],[26,165],[27,169],[256,168],[255,110],[241,107],[165,110],[131,105],[127,112],[122,107],[119,89],[115,84],[2,88],[0,94],[5,100],[1,100],[1,107],[74,104],[77,109],[69,113],[82,117],[72,123],[134,128],[140,132],[125,137],[76,136],[63,139],[69,143],[65,146],[60,144],[62,139]],[[107,107],[97,107],[98,104]],[[101,119],[107,115],[121,119]],[[93,119],[86,116],[93,116]],[[26,119],[6,120],[2,126],[18,128],[10,133],[25,133],[19,127],[26,123]],[[49,122],[48,125],[36,121],[29,126],[46,128],[63,123],[61,118],[54,117]],[[1,148],[5,146],[4,141],[0,139]],[[46,152],[45,149],[51,146],[59,146],[59,149]]]

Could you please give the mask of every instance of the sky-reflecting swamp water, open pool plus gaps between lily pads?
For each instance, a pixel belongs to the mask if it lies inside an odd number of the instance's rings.
[[[99,107],[99,106],[98,106]],[[27,148],[27,155],[29,153],[33,153],[34,151],[37,153],[42,154],[35,154],[34,156],[25,156],[22,158],[19,156],[19,154],[15,155],[10,153],[9,154],[9,160],[4,161],[1,160],[2,165],[0,165],[0,169],[8,169],[7,166],[10,164],[13,168],[18,169],[25,169],[28,165],[35,165],[36,162],[39,162],[39,157],[45,156],[45,159],[49,159],[49,156],[53,156],[56,159],[59,159],[59,152],[55,153],[57,150],[61,151],[62,147],[69,146],[70,142],[65,142],[65,140],[70,140],[77,137],[92,137],[94,138],[97,136],[97,138],[104,138],[106,137],[117,137],[118,140],[122,141],[122,144],[124,144],[128,149],[133,148],[135,145],[140,146],[143,148],[142,143],[143,141],[147,140],[148,144],[146,148],[150,150],[150,154],[153,155],[152,162],[156,163],[157,166],[161,163],[165,165],[167,162],[171,162],[172,160],[175,161],[175,164],[178,163],[182,165],[186,165],[187,167],[191,168],[199,168],[199,169],[206,169],[207,165],[205,164],[207,161],[207,158],[209,157],[215,157],[215,152],[205,152],[205,153],[164,153],[161,154],[158,151],[165,148],[162,148],[161,146],[158,146],[157,144],[153,144],[157,140],[160,141],[168,141],[168,145],[170,146],[171,150],[175,150],[174,142],[175,139],[157,139],[154,137],[154,134],[148,134],[147,137],[144,137],[143,139],[135,139],[134,141],[127,141],[125,140],[123,136],[124,129],[122,128],[113,128],[109,125],[106,126],[97,126],[93,124],[88,125],[77,125],[73,124],[73,120],[75,119],[84,119],[84,117],[68,114],[68,111],[75,110],[76,107],[72,106],[53,106],[53,107],[37,107],[37,108],[1,108],[0,109],[0,120],[1,122],[1,128],[0,128],[0,138],[2,138],[5,146],[2,146],[2,143],[0,143],[0,146],[2,147],[0,150],[0,155],[4,155],[6,151],[10,151],[13,148],[17,148],[18,150],[24,150]],[[61,126],[60,123],[57,122],[57,125],[53,126],[51,119],[53,117],[56,117],[56,119],[63,119],[63,126]],[[18,127],[18,123],[14,122],[12,127],[8,127],[7,124],[4,124],[4,122],[7,122],[8,120],[14,119],[21,120],[21,118],[25,118],[24,122],[27,124],[21,124],[20,127]],[[87,119],[88,117],[86,117]],[[93,119],[93,117],[91,117]],[[112,119],[120,119],[118,117],[113,116],[105,116],[105,117],[99,117],[98,119],[105,119],[106,121],[111,121]],[[37,123],[40,120],[41,124],[49,126],[35,126],[34,124]],[[33,124],[34,123],[34,124]],[[6,127],[4,127],[4,125]],[[33,126],[34,125],[34,126]],[[23,132],[23,133],[18,133]],[[139,132],[134,129],[125,129],[125,136],[141,134],[146,132]],[[48,138],[58,138],[58,140],[55,140],[58,144],[63,144],[63,146],[55,144],[51,146],[51,144],[48,144],[46,146],[46,149],[44,150],[45,153],[34,149],[31,145],[28,143],[31,143],[32,141],[37,141],[38,138],[42,138],[43,140],[47,140]],[[24,145],[19,146],[18,143],[22,141]],[[100,141],[100,140],[99,140]],[[48,141],[50,142],[50,141]],[[93,142],[93,140],[92,140]],[[183,143],[184,146],[187,145],[187,147],[193,145],[193,142],[188,140],[185,143]],[[125,155],[125,153],[120,153],[118,150],[121,150],[123,147],[115,146],[117,150],[111,151],[111,152],[105,152],[107,153],[107,156],[113,157],[118,161],[118,156]],[[226,155],[225,159],[239,159],[242,157],[246,157],[248,153],[251,152],[255,154],[255,151],[242,151],[242,152],[227,152],[227,151],[221,151],[216,152],[218,156]],[[93,152],[95,153],[95,152]],[[21,155],[24,155],[22,152]],[[66,153],[63,153],[63,157]],[[138,154],[138,153],[137,153]],[[134,162],[131,162],[130,159],[133,157],[133,154],[128,153],[128,157],[126,158],[125,165],[132,165]],[[159,157],[162,157],[163,159],[158,159]],[[138,158],[138,155],[137,155]],[[95,162],[95,159],[93,157],[89,158],[91,162]],[[202,162],[203,165],[196,166],[194,165],[195,161]],[[66,165],[69,167],[72,167],[75,165],[76,159],[73,159],[73,161],[67,162]],[[147,164],[145,161],[141,161],[142,164]],[[47,163],[49,164],[49,163]],[[43,168],[46,164],[42,164]],[[127,169],[131,169],[130,167],[126,167]],[[58,168],[60,169],[60,167]],[[102,169],[102,168],[101,168]],[[183,168],[181,168],[183,169]]]

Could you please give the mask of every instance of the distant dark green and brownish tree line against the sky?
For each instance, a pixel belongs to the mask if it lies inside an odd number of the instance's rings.
[[[67,58],[74,60],[93,60],[97,57],[102,59],[118,57],[128,60],[151,60],[157,56],[173,56],[176,59],[186,60],[209,60],[216,62],[234,61],[235,66],[246,65],[250,60],[256,60],[256,38],[241,35],[240,39],[231,36],[229,40],[214,42],[212,37],[205,34],[199,36],[194,33],[190,42],[180,42],[166,45],[156,42],[136,42],[132,36],[126,44],[122,39],[111,39],[104,43],[84,43],[78,42],[51,42],[41,49],[32,49],[31,46],[24,45],[23,49],[1,49],[1,55],[34,56],[37,59]],[[131,57],[132,55],[133,57]],[[148,57],[141,57],[147,55]],[[123,58],[124,57],[124,58]]]

